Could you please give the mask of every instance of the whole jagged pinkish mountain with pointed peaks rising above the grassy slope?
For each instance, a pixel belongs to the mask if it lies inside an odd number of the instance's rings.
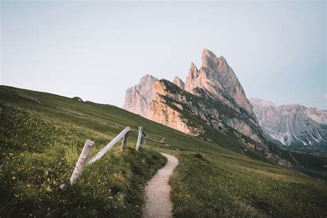
[[[224,57],[207,49],[199,70],[190,64],[185,85],[178,77],[172,83],[145,75],[128,88],[123,108],[189,135],[203,134],[208,125],[235,135],[250,148],[268,149],[235,72]]]

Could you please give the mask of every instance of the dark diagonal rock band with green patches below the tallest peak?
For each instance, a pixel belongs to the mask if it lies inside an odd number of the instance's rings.
[[[175,110],[183,111],[184,115],[191,115],[204,121],[208,126],[219,130],[219,132],[230,132],[232,129],[246,135],[253,141],[262,142],[264,134],[259,124],[253,124],[248,117],[244,117],[241,113],[222,104],[218,99],[212,99],[212,97],[206,95],[204,90],[196,90],[200,96],[197,97],[190,92],[178,89],[169,81],[161,80],[157,82],[162,84],[161,90],[165,90],[157,93],[164,97],[166,104],[172,106],[172,108],[174,106],[178,108],[175,108]],[[186,126],[192,126],[187,119],[183,119],[183,121],[186,122]],[[199,131],[201,128],[197,128],[197,130],[201,133]],[[235,133],[235,131],[233,132]]]

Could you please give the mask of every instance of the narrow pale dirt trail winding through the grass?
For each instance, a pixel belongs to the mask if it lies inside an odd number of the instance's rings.
[[[169,178],[177,166],[175,156],[161,153],[167,157],[166,166],[158,170],[145,189],[145,202],[142,207],[143,217],[172,217],[172,202],[170,201]]]

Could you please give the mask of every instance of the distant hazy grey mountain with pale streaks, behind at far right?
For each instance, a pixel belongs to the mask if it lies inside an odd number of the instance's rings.
[[[284,146],[327,145],[327,111],[250,99],[265,134]]]

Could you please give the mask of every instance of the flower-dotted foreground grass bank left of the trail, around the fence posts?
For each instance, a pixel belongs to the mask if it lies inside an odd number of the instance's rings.
[[[17,106],[1,106],[1,215],[139,217],[146,181],[166,164],[158,152],[119,146],[86,167],[81,179],[59,190],[72,173],[83,141],[96,151],[110,140]],[[93,155],[95,152],[93,152]]]

